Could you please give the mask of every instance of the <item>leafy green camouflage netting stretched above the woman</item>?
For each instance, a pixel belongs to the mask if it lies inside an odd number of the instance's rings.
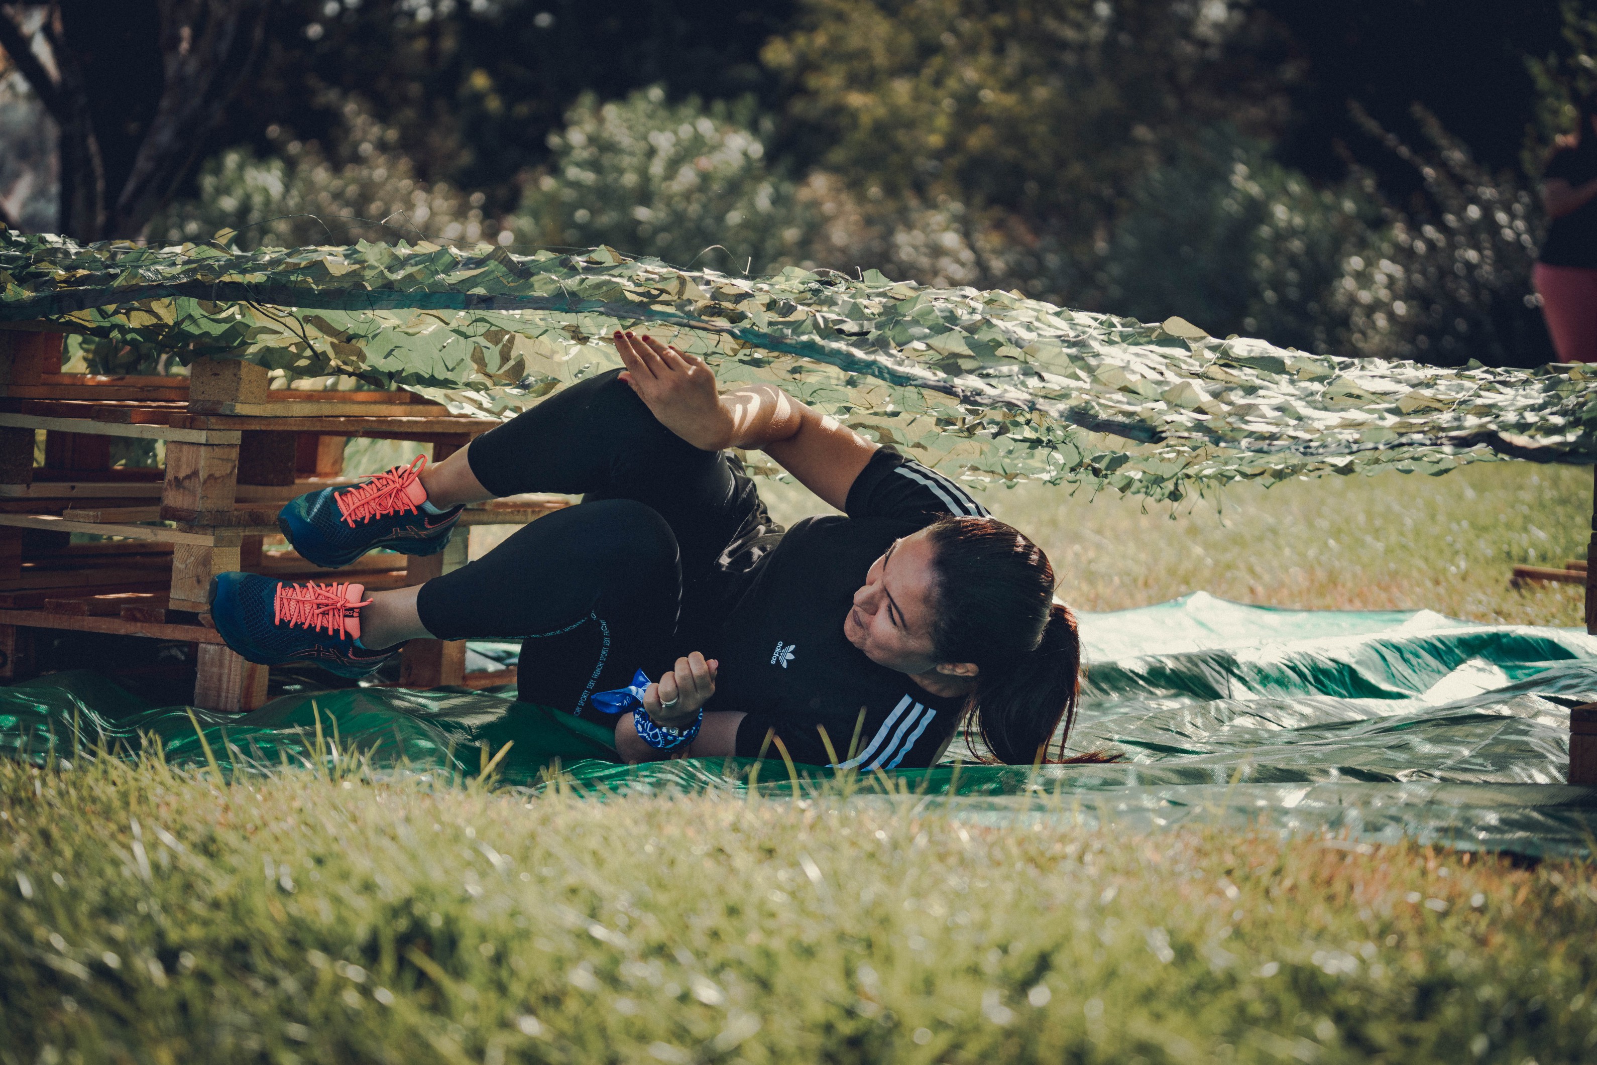
[[[0,321],[48,319],[133,356],[353,375],[489,417],[620,366],[605,337],[647,329],[703,354],[723,385],[779,383],[947,473],[1155,500],[1500,457],[1597,461],[1597,380],[1584,366],[1306,354],[1217,340],[1177,318],[1148,326],[877,271],[735,278],[607,247],[222,243],[78,246],[0,232]]]

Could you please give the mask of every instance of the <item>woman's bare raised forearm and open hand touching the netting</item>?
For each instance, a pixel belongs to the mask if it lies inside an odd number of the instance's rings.
[[[878,447],[775,385],[719,393],[704,359],[653,337],[618,332],[615,348],[626,364],[621,378],[668,430],[707,452],[763,450],[837,509]]]

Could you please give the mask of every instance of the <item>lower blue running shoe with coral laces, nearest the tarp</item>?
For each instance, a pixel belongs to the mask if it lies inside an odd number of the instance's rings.
[[[289,584],[254,573],[211,580],[211,620],[227,645],[252,663],[313,663],[340,677],[364,677],[399,650],[359,647],[361,584]]]

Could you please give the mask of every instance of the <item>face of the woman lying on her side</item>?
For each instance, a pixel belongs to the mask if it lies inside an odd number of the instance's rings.
[[[878,666],[913,675],[937,664],[931,651],[931,554],[925,530],[896,540],[854,592],[843,635]]]

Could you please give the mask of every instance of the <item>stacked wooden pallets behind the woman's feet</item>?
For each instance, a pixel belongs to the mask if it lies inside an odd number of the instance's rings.
[[[430,442],[442,460],[495,422],[450,415],[412,393],[273,390],[264,367],[243,361],[198,359],[190,370],[64,374],[59,334],[0,327],[0,679],[26,675],[35,629],[187,640],[198,647],[195,704],[248,711],[265,699],[267,669],[209,628],[211,578],[246,570],[377,591],[465,565],[468,536],[438,556],[378,552],[343,570],[264,552],[264,541],[278,533],[284,501],[350,482],[347,439]],[[40,430],[46,460],[35,468]],[[115,437],[164,441],[164,471],[112,469]],[[525,524],[564,505],[495,500],[468,508],[460,524]],[[85,551],[69,548],[70,533],[117,540]],[[463,642],[410,640],[401,677],[407,687],[487,687],[514,671],[468,677]]]

